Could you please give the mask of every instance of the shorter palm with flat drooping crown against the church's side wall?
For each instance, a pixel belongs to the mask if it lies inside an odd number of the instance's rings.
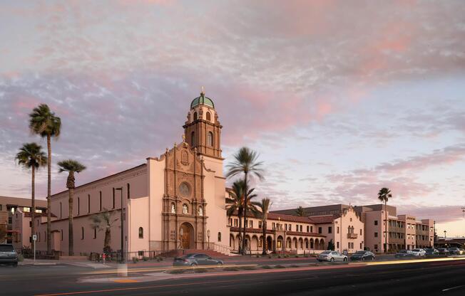
[[[68,189],[69,201],[68,201],[68,255],[74,255],[74,238],[73,238],[73,196],[74,188],[74,173],[80,173],[86,166],[77,162],[73,159],[63,160],[58,162],[60,170],[58,172],[68,171],[68,179],[66,180],[66,188]]]

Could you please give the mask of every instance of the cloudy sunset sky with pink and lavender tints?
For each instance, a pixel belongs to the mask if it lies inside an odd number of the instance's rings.
[[[378,203],[465,236],[463,1],[1,1],[0,195],[30,196],[28,114],[62,120],[76,184],[182,140],[205,86],[225,164],[260,153],[272,208]],[[36,179],[46,196],[46,169]]]

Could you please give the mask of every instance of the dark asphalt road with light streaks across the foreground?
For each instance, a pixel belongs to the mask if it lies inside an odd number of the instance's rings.
[[[243,270],[152,282],[78,282],[88,268],[0,267],[1,295],[465,295],[465,260]],[[88,276],[88,275],[86,275]],[[98,275],[96,275],[98,276]]]

